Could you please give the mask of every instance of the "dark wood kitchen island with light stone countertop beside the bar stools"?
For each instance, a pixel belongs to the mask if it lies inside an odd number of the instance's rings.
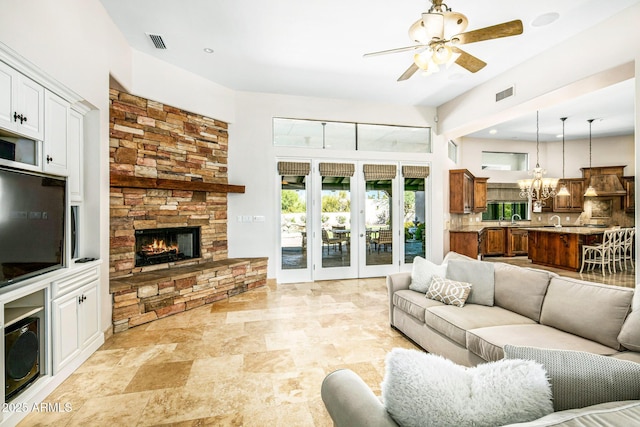
[[[597,227],[527,227],[529,259],[533,264],[578,271],[582,262],[582,245],[602,240],[605,228]]]

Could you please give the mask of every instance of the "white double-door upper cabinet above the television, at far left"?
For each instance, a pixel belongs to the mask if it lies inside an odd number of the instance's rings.
[[[0,62],[0,128],[41,141],[44,88]]]

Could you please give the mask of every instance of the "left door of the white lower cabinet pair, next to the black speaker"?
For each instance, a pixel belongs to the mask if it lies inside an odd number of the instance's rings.
[[[53,301],[53,374],[80,352],[78,289]]]

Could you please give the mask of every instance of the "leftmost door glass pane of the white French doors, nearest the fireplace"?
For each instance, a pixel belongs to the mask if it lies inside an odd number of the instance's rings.
[[[307,268],[307,177],[283,176],[280,200],[282,269]]]

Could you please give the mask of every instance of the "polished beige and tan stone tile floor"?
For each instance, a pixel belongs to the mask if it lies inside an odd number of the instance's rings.
[[[604,282],[633,287],[635,275]],[[350,368],[379,394],[386,353],[414,348],[389,327],[387,307],[383,278],[281,284],[142,325],[110,338],[49,396],[71,412],[33,413],[20,426],[330,426],[326,374]]]

